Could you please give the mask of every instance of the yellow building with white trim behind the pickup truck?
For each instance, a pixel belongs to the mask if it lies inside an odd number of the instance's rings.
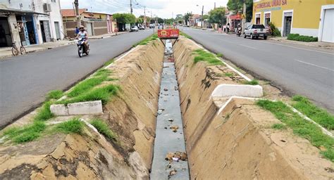
[[[282,36],[301,34],[334,42],[334,0],[254,0],[254,24],[273,23]]]

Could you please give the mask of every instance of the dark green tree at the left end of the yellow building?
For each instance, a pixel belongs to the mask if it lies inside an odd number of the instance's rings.
[[[250,22],[253,15],[253,0],[228,0],[228,10],[242,13],[244,1],[246,1],[246,22]]]

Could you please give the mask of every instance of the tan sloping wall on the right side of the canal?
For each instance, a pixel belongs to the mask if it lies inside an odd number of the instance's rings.
[[[334,178],[332,162],[292,131],[271,129],[280,121],[254,101],[231,101],[218,113],[212,91],[242,79],[222,76],[225,66],[194,63],[195,49],[185,38],[174,46],[191,179]]]

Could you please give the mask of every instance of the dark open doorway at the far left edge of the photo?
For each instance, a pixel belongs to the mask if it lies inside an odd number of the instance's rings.
[[[9,29],[8,18],[0,17],[0,47],[8,47],[11,44],[11,30]]]

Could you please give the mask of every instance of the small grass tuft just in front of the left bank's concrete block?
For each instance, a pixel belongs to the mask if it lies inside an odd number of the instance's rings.
[[[65,134],[71,134],[71,133],[82,134],[84,126],[85,123],[80,121],[78,117],[75,117],[66,122],[62,122],[61,124],[57,124],[54,127],[54,129],[55,131],[62,132]]]

